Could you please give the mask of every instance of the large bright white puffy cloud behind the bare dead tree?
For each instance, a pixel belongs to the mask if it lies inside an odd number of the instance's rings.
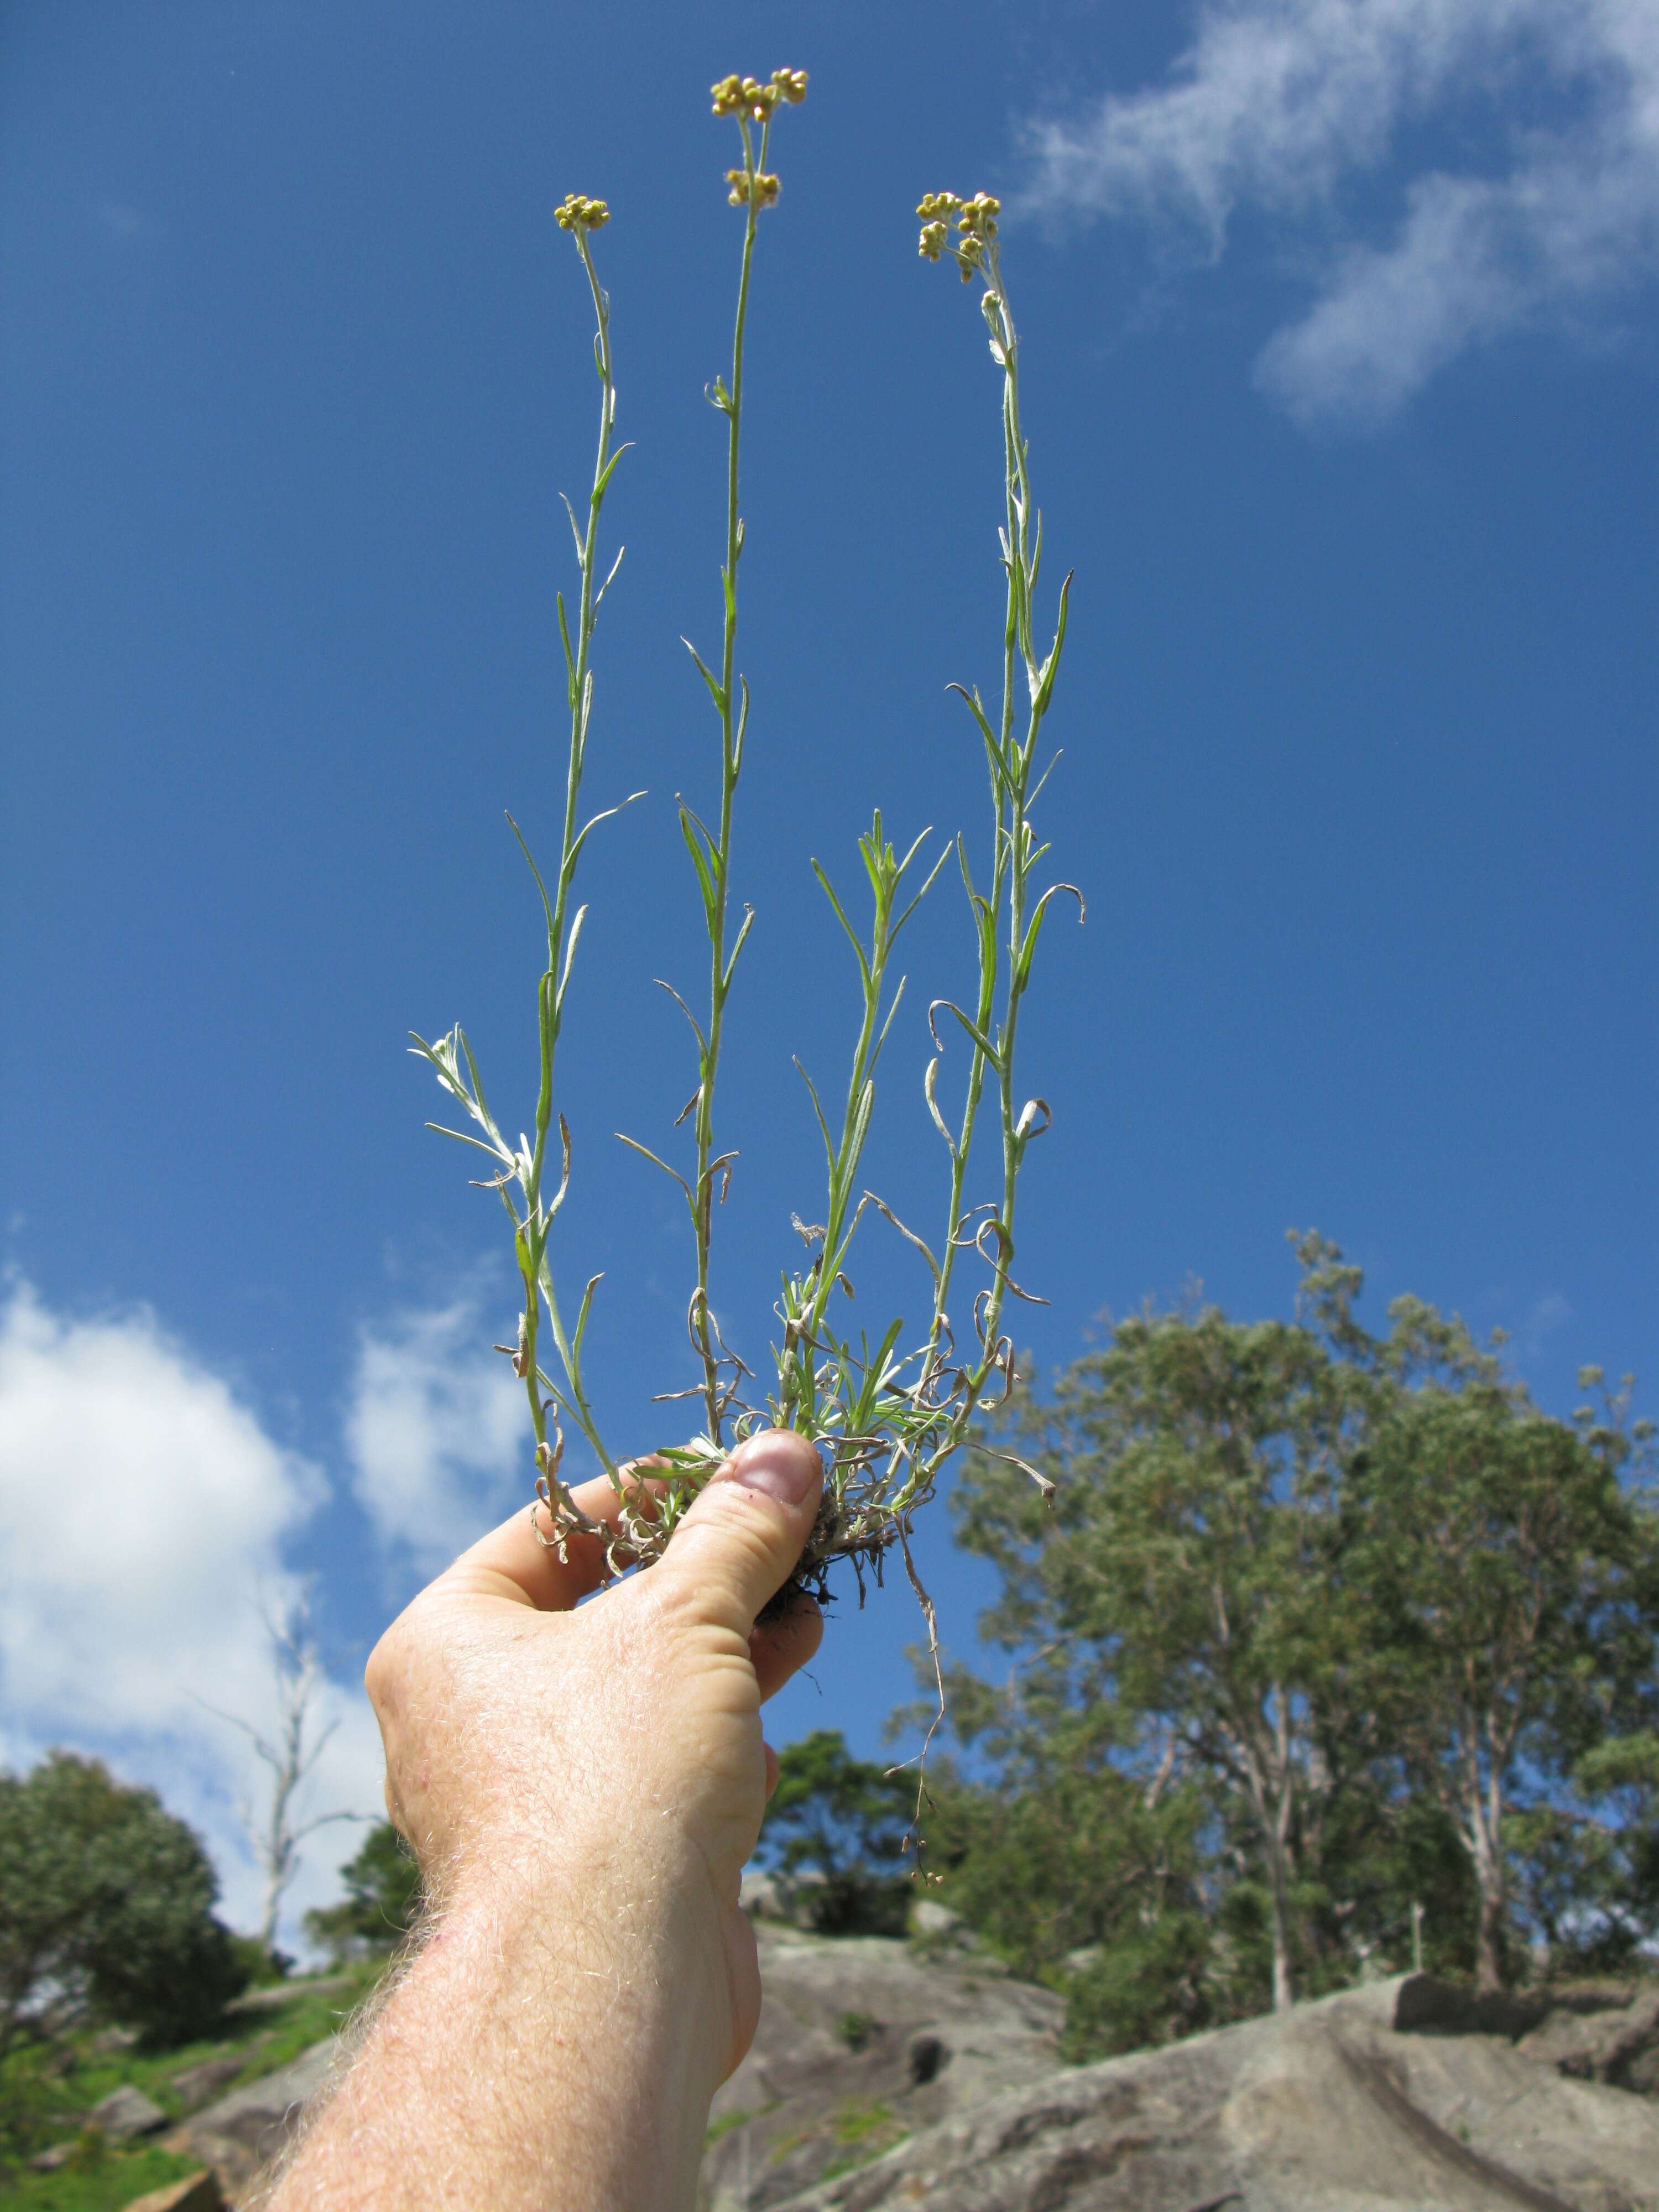
[[[263,1770],[204,1701],[270,1723],[261,1597],[294,1582],[283,1540],[325,1484],[148,1312],[75,1321],[29,1285],[0,1305],[0,1763],[49,1745],[150,1783],[206,1838],[226,1916],[259,1920],[239,1818]],[[330,1683],[336,1732],[307,1785],[314,1812],[378,1812],[380,1750],[363,1694]],[[338,1891],[358,1843],[321,1829],[285,1931]]]

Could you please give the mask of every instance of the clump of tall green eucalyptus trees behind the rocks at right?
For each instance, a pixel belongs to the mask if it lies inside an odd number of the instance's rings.
[[[1172,2020],[1418,1953],[1486,1986],[1517,1944],[1628,1955],[1659,1927],[1652,1429],[1628,1389],[1544,1413],[1418,1298],[1369,1334],[1358,1270],[1296,1250],[1292,1321],[1133,1314],[964,1471],[1015,1674],[953,1683],[951,1889],[1051,1973],[1071,1942],[1119,2000],[1150,1973]]]

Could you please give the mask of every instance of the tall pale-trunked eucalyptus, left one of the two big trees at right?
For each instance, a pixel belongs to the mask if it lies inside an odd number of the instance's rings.
[[[1148,1310],[1048,1405],[1024,1398],[1020,1449],[1055,1482],[1046,1511],[1009,1495],[995,1462],[958,1491],[962,1542],[1004,1575],[991,1632],[1086,1648],[1099,1692],[1237,1801],[1265,1876],[1276,2008],[1294,2000],[1321,1825],[1376,1747],[1340,1559],[1349,1413],[1318,1332]]]

